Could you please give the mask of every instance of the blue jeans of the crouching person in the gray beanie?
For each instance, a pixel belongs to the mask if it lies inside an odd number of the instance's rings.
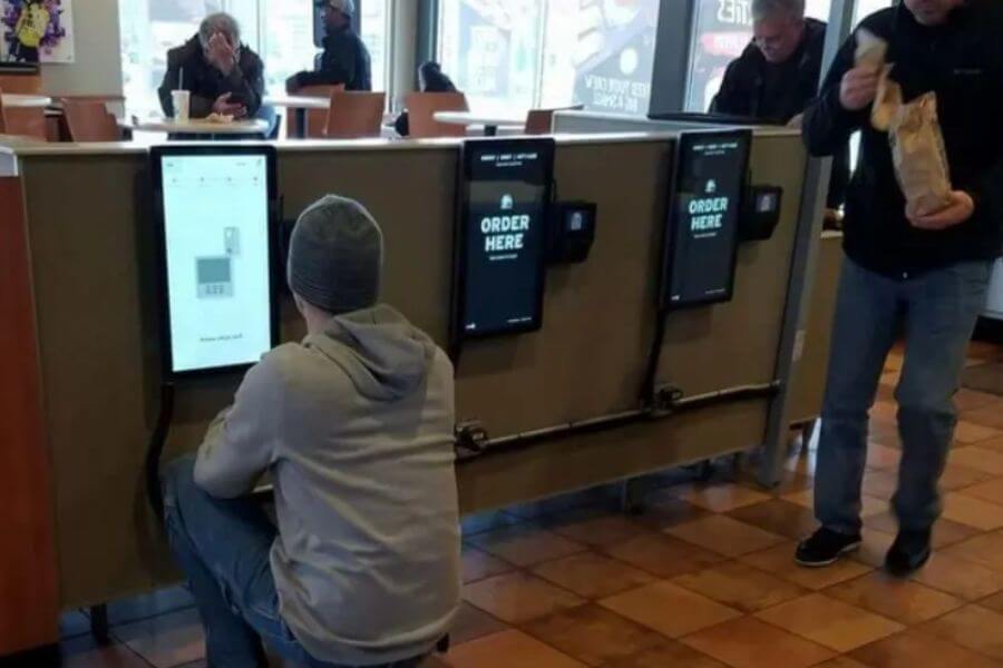
[[[286,661],[337,668],[312,658],[279,613],[269,553],[276,529],[252,499],[224,500],[195,483],[187,456],[164,470],[167,538],[205,627],[210,668],[267,666],[262,641]],[[413,668],[420,659],[386,668]]]

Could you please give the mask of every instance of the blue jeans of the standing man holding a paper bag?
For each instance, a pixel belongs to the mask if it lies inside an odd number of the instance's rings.
[[[818,521],[860,531],[868,412],[885,360],[905,335],[895,391],[903,456],[892,500],[902,531],[929,530],[941,514],[937,482],[954,439],[954,394],[985,306],[991,262],[889,278],[846,259],[839,285],[815,480]]]

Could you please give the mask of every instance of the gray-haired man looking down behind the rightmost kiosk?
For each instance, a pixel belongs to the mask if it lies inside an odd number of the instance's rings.
[[[821,81],[826,24],[805,17],[805,0],[752,0],[752,30],[710,111],[800,128]],[[843,206],[848,180],[849,141],[834,156],[828,208]]]

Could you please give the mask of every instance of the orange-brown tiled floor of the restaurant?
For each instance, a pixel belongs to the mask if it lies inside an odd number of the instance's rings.
[[[470,518],[454,647],[428,667],[1003,667],[1003,399],[958,395],[934,559],[907,581],[875,570],[895,532],[900,451],[887,384],[899,367],[893,356],[873,415],[854,559],[822,570],[791,560],[814,527],[810,448],[772,492],[739,477],[653,489],[640,517],[593,491]],[[115,644],[96,648],[82,615],[66,619],[68,666],[204,665],[183,591],[115,607],[111,620]]]

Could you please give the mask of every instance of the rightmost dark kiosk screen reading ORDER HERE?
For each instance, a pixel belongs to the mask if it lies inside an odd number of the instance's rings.
[[[664,311],[732,296],[739,215],[752,134],[683,134],[665,235]]]

